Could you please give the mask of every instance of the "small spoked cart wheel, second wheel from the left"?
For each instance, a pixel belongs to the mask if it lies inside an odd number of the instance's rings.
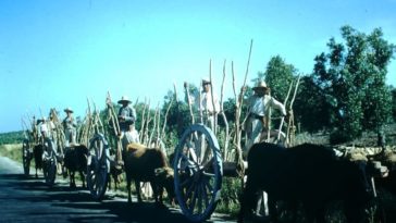
[[[49,144],[52,144],[53,148],[53,141],[51,139],[47,139],[44,146],[45,154],[42,160],[42,174],[46,179],[46,184],[48,186],[53,186],[57,177],[57,156]]]

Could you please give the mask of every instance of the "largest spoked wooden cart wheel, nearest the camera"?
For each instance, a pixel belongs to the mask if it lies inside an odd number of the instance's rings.
[[[184,215],[191,222],[210,218],[220,199],[223,164],[212,131],[189,126],[175,149],[175,194]]]

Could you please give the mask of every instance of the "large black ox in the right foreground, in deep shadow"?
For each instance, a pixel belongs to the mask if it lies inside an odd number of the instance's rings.
[[[326,205],[344,201],[348,222],[361,222],[372,198],[366,164],[339,159],[332,149],[305,144],[293,148],[256,144],[248,154],[247,182],[238,222],[251,214],[257,193],[269,196],[270,216],[276,221],[275,201],[300,202],[308,222],[324,222]]]

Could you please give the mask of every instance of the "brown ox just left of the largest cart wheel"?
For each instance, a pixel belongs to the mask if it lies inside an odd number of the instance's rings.
[[[124,151],[123,157],[125,163],[128,202],[132,202],[131,183],[132,179],[134,179],[138,202],[141,202],[140,182],[149,182],[153,191],[156,203],[162,205],[162,202],[159,201],[159,196],[162,196],[162,188],[160,188],[161,184],[159,184],[159,179],[163,174],[161,174],[161,171],[157,171],[156,176],[156,170],[169,168],[165,153],[160,149],[151,149],[146,148],[143,145],[129,144],[126,148],[126,151]],[[166,174],[169,171],[163,171],[162,173],[169,175]],[[162,182],[166,183],[168,181]],[[171,189],[170,186],[164,187],[166,190]],[[173,195],[173,191],[168,190],[168,194]],[[162,198],[160,198],[160,200],[162,200]]]

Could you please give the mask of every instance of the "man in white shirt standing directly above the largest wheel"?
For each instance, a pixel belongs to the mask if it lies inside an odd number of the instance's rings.
[[[220,112],[220,102],[218,96],[212,92],[211,85],[212,83],[209,78],[202,78],[202,94],[200,95],[200,100],[196,100],[196,107],[202,112],[203,123],[213,129],[215,116]]]

